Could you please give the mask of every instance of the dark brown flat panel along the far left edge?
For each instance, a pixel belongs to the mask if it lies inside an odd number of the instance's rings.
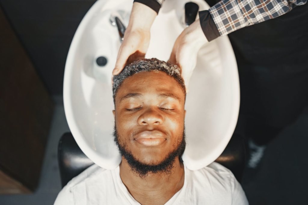
[[[0,169],[34,190],[53,103],[1,8],[0,31]]]

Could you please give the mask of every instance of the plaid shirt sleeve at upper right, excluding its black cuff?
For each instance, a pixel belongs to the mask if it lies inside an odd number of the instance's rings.
[[[220,35],[276,18],[307,0],[222,0],[209,9]]]

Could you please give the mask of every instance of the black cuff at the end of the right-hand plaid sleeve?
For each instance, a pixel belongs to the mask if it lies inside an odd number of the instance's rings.
[[[215,22],[208,10],[199,11],[199,19],[203,33],[208,41],[212,41],[220,36]]]

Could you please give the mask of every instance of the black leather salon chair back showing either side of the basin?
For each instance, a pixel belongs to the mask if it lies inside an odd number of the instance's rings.
[[[244,139],[240,135],[233,135],[223,153],[215,160],[231,170],[239,182],[245,167],[245,147]],[[58,162],[62,187],[93,164],[83,154],[70,132],[65,133],[59,141]]]

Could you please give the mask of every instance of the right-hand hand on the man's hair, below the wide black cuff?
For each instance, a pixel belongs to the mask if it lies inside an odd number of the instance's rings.
[[[197,63],[197,53],[208,40],[200,25],[199,19],[185,28],[176,39],[168,62],[178,65],[185,82],[186,91],[193,70]]]

